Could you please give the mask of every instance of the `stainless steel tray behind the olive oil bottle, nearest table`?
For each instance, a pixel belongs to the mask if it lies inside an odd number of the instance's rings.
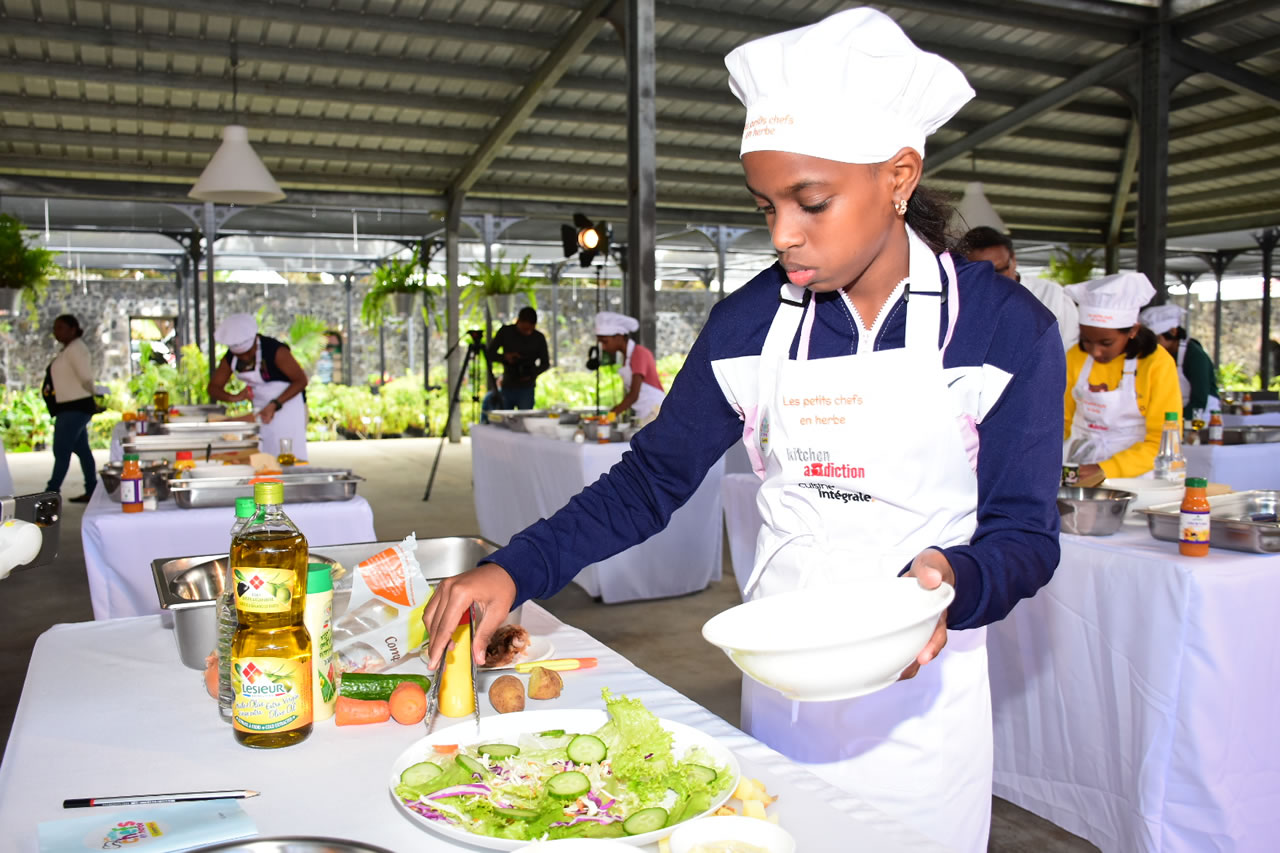
[[[361,561],[393,544],[399,543],[316,546],[307,560],[329,564],[337,580],[348,569],[355,569]],[[479,537],[443,537],[417,539],[413,555],[428,581],[436,581],[461,575],[497,549],[498,546]],[[214,648],[218,630],[215,603],[227,580],[227,558],[225,553],[214,553],[151,561],[151,579],[156,585],[160,607],[173,613],[178,656],[193,670],[205,669],[205,657]],[[334,593],[335,619],[346,612],[349,597],[349,588]],[[518,621],[518,617],[512,615],[512,620]]]

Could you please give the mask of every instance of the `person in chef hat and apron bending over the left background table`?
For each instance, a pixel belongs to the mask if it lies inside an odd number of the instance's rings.
[[[209,397],[225,402],[252,400],[261,426],[257,446],[264,453],[280,452],[288,438],[297,459],[307,457],[307,407],[303,391],[307,374],[289,351],[289,345],[257,333],[252,314],[232,314],[214,329],[214,339],[227,353],[209,378]],[[236,374],[244,383],[237,393],[227,391]]]

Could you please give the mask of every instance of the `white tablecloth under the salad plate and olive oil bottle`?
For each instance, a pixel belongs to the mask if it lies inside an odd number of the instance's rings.
[[[658,716],[713,735],[737,754],[745,775],[780,795],[769,811],[804,853],[942,853],[536,605],[525,606],[524,625],[549,635],[557,654],[599,658],[594,670],[566,672],[564,693],[532,702],[539,710],[599,708],[600,689],[608,686],[641,699]],[[330,720],[296,747],[239,747],[201,675],[178,662],[169,634],[159,616],[141,616],[56,625],[36,642],[0,763],[4,849],[33,853],[38,822],[83,815],[64,811],[64,798],[238,788],[261,792],[239,802],[264,836],[346,838],[397,853],[461,849],[399,813],[388,792],[392,763],[422,736],[422,726],[338,729]],[[406,666],[424,671],[416,658]],[[479,684],[485,716],[494,713],[485,701],[494,678],[483,675]],[[457,725],[460,733],[470,730]]]

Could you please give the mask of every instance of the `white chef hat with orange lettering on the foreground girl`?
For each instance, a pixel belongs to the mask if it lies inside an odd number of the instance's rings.
[[[974,96],[959,68],[876,9],[749,41],[724,64],[746,106],[742,154],[883,163],[911,147],[924,156],[924,138]]]

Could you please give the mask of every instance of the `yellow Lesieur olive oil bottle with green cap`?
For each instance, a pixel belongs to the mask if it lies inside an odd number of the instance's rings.
[[[246,747],[274,749],[311,734],[307,540],[284,514],[284,484],[256,484],[253,501],[259,512],[232,540],[230,553],[232,725]]]

